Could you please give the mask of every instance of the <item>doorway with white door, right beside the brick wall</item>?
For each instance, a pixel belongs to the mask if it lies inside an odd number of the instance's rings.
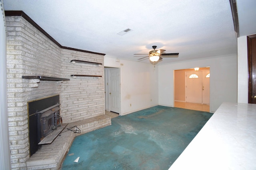
[[[120,68],[104,68],[105,110],[120,113]]]

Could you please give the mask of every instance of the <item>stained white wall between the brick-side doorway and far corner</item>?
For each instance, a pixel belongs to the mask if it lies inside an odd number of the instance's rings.
[[[123,64],[121,66],[121,64]],[[121,113],[125,115],[158,105],[158,67],[104,57],[104,66],[120,68],[121,76]],[[152,101],[151,101],[152,100]],[[131,106],[130,106],[131,104]]]

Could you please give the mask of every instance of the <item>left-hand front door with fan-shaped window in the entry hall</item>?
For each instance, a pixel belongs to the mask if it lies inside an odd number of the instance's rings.
[[[202,104],[201,71],[186,72],[186,102]]]

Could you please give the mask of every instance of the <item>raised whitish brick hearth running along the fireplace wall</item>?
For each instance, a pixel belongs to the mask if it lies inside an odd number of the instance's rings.
[[[42,145],[42,148],[28,159],[26,162],[28,170],[58,170],[75,136],[111,125],[111,118],[107,115],[100,115],[70,123],[66,128],[75,125],[81,130],[80,134],[64,129],[63,131],[66,132],[61,133],[50,145]]]

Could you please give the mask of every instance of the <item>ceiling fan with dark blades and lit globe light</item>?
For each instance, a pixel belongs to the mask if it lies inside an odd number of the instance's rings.
[[[179,53],[163,53],[165,50],[159,49],[156,50],[156,46],[152,46],[154,50],[151,50],[148,54],[134,54],[134,55],[148,55],[150,61],[156,62],[158,60],[162,60],[162,57],[178,57]],[[134,56],[134,57],[142,57],[142,56]],[[146,59],[146,57],[142,57],[138,60],[142,61],[142,59]]]

